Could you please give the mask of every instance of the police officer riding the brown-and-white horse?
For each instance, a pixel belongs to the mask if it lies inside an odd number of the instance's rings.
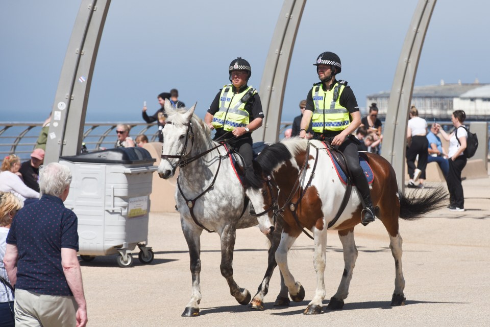
[[[375,213],[369,184],[359,164],[357,141],[351,135],[361,124],[356,97],[346,81],[335,79],[341,71],[340,58],[336,54],[324,52],[317,57],[313,65],[316,66],[321,82],[313,84],[308,92],[300,137],[306,136],[311,120],[314,138],[330,142],[344,153],[353,183],[364,202],[361,222],[373,222]]]

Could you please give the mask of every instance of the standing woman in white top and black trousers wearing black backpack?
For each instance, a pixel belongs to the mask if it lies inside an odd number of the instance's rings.
[[[449,141],[448,160],[449,160],[449,172],[446,177],[449,190],[449,210],[451,211],[464,211],[464,195],[463,185],[461,184],[461,172],[468,158],[464,155],[466,149],[466,140],[468,132],[464,128],[463,122],[466,119],[466,114],[463,110],[456,110],[451,115],[451,122],[455,131],[451,134],[446,133],[443,129],[440,129],[440,134]],[[457,132],[457,138],[456,138]]]

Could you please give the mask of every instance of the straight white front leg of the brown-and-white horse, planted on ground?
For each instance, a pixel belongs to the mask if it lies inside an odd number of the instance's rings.
[[[325,263],[327,252],[327,230],[315,229],[315,252],[313,254],[313,265],[316,272],[316,291],[315,296],[308,303],[304,314],[321,314],[323,310],[323,299],[325,298]]]

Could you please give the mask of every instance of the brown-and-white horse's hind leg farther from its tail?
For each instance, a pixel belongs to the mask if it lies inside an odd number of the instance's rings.
[[[340,310],[344,307],[344,300],[349,295],[349,285],[358,255],[356,242],[354,241],[354,227],[347,230],[339,230],[338,238],[344,250],[344,273],[342,273],[337,293],[328,302],[327,308],[331,310]]]

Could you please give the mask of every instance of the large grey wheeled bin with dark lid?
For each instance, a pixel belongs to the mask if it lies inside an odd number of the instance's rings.
[[[79,254],[84,261],[117,255],[120,267],[153,261],[148,220],[155,159],[143,148],[115,148],[60,157],[73,175],[65,206],[78,217]]]

